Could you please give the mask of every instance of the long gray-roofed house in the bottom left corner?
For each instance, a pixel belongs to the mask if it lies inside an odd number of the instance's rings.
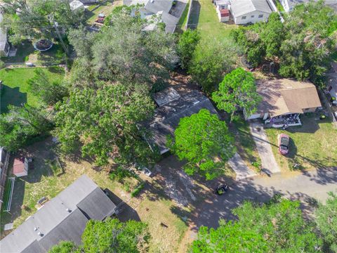
[[[103,190],[83,175],[1,240],[1,252],[48,252],[62,240],[80,245],[88,220],[102,221],[115,208]]]

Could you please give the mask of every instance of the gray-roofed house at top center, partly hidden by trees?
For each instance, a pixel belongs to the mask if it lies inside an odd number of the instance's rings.
[[[133,11],[131,15],[140,14],[142,18],[160,16],[160,21],[165,23],[165,31],[173,33],[183,11],[187,6],[187,0],[124,0],[126,6],[143,5],[139,11]],[[156,26],[147,27],[145,30],[153,30]]]

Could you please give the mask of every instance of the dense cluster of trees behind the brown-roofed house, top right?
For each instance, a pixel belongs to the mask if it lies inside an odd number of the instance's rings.
[[[337,15],[324,1],[298,4],[282,23],[272,13],[267,23],[232,31],[255,67],[264,60],[279,64],[279,74],[321,84],[337,42]]]

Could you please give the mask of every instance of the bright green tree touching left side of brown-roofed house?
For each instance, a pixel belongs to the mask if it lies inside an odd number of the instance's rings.
[[[219,84],[219,90],[213,92],[212,98],[220,110],[225,110],[232,116],[238,109],[251,115],[261,100],[256,92],[253,74],[242,67],[225,75],[223,82]]]

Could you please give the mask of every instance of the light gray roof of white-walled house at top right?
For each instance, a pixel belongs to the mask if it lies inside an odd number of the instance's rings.
[[[266,0],[232,0],[230,2],[230,11],[234,17],[239,17],[252,11],[272,13]]]

